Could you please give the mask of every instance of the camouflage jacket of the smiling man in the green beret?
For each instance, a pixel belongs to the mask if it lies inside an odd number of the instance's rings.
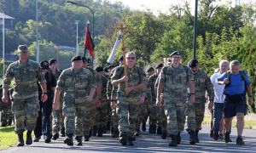
[[[194,80],[192,71],[187,66],[188,72],[180,64],[177,71],[172,68],[172,65],[166,65],[162,68],[159,75],[159,82],[164,82],[163,98],[187,99],[188,97],[188,82]],[[164,69],[167,68],[166,74]]]

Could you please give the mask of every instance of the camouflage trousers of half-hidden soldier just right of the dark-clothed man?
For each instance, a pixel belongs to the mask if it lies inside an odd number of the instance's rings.
[[[63,100],[60,99],[60,110],[56,111],[55,109],[52,110],[52,133],[59,133],[60,127],[64,127],[64,117],[62,113],[63,108]]]

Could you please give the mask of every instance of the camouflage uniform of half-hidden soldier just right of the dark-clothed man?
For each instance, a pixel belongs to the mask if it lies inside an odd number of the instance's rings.
[[[61,76],[61,72],[62,71],[56,70],[56,72],[55,72],[55,81],[56,82],[58,81],[59,77]],[[60,94],[60,97],[59,97],[60,105],[61,105],[60,110],[55,110],[55,109],[52,110],[52,133],[59,133],[60,127],[64,128],[64,118],[65,118],[65,116],[62,113],[63,95],[64,95],[64,92],[62,90],[61,94]],[[54,95],[53,95],[53,97],[54,97]]]

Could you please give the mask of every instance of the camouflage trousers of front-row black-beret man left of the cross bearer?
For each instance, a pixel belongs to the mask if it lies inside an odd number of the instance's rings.
[[[66,134],[73,133],[75,136],[83,136],[83,124],[86,110],[86,103],[63,102],[63,115]]]

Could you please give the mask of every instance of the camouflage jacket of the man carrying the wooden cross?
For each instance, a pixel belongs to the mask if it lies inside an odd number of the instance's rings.
[[[119,80],[124,76],[125,76],[124,66],[118,66],[113,71],[111,82],[113,82],[113,80]],[[143,71],[143,69],[139,66],[135,65],[131,69],[127,67],[127,76],[129,77],[128,87],[137,86],[140,83],[145,83],[146,85],[148,84],[148,79],[146,77],[146,74]],[[146,96],[145,93],[143,94],[141,92],[141,90],[142,89],[133,90],[128,95],[133,95],[134,97],[136,97],[137,99],[139,98],[140,100],[141,96],[143,95]],[[124,96],[124,95],[125,95],[125,82],[121,82],[119,83],[118,89],[117,89],[117,99],[119,99],[119,96]]]

